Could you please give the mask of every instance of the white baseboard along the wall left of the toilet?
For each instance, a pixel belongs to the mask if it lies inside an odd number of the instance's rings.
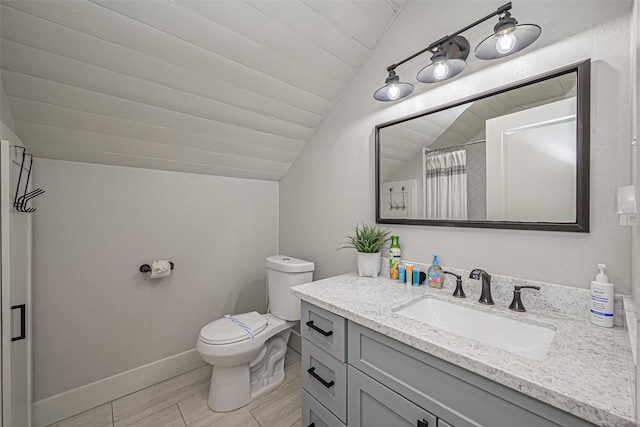
[[[119,397],[168,380],[205,363],[196,349],[92,382],[33,404],[33,426],[45,427]]]

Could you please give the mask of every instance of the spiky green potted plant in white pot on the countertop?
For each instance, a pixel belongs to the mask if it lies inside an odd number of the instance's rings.
[[[378,225],[356,225],[354,234],[345,236],[344,246],[339,249],[353,248],[358,251],[358,275],[378,277],[381,267],[380,249],[389,241],[391,233]]]

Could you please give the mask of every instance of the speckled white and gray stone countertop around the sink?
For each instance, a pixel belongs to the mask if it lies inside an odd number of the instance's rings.
[[[462,270],[455,272],[463,273]],[[493,280],[500,282],[500,276],[493,276]],[[582,301],[564,300],[560,301],[560,306],[549,303],[562,295],[563,290],[566,290],[565,294],[574,293],[580,300],[584,295],[588,301],[588,291],[537,282],[535,284],[542,288],[539,293],[523,292],[527,312],[512,312],[507,308],[511,298],[506,289],[515,280],[503,277],[498,283],[493,295],[495,306],[479,304],[479,286],[468,280],[465,299],[451,296],[453,281],[450,279],[444,289],[433,289],[425,285],[407,286],[386,277],[358,277],[352,273],[299,285],[291,292],[303,301],[594,424],[635,426],[635,365],[627,328],[602,328],[591,324]],[[520,281],[519,284],[524,283]],[[545,358],[531,360],[392,311],[425,296],[525,322],[546,324],[555,328],[556,334]],[[563,304],[567,304],[566,310],[563,310]],[[620,322],[624,322],[623,317],[620,316]]]

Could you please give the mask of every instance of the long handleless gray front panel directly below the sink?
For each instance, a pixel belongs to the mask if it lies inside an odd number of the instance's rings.
[[[455,427],[593,427],[353,322],[349,324],[349,364]]]

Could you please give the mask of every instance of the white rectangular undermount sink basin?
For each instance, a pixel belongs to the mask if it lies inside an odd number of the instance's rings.
[[[433,298],[423,298],[393,311],[427,325],[535,360],[544,359],[555,335],[551,328]]]

